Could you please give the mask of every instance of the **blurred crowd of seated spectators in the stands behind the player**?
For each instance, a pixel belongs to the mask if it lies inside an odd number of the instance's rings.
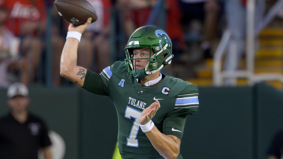
[[[124,46],[130,34],[144,25],[166,30],[173,42],[174,61],[184,61],[185,55],[194,55],[186,59],[191,63],[212,58],[213,43],[229,25],[235,29],[236,38],[243,38],[244,29],[236,28],[235,21],[230,24],[223,19],[237,16],[243,20],[245,14],[235,15],[235,9],[237,5],[244,9],[246,0],[236,0],[236,4],[234,0],[88,1],[96,9],[98,20],[83,34],[78,65],[98,73],[112,62],[124,60]],[[0,87],[13,82],[45,85],[47,79],[54,87],[72,85],[59,75],[68,22],[57,14],[53,2],[0,0]],[[191,44],[198,51],[192,50]]]

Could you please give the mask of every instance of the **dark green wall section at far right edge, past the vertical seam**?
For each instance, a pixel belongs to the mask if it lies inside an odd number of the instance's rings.
[[[256,87],[257,158],[266,159],[274,134],[283,128],[283,92],[263,83]]]

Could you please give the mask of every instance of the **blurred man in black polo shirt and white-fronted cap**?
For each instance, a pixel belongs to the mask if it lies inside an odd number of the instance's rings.
[[[0,158],[37,159],[43,148],[45,159],[51,158],[50,139],[42,119],[28,111],[29,90],[16,82],[7,91],[10,112],[0,118]]]

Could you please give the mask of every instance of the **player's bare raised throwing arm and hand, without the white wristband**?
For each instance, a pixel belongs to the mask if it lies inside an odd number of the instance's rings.
[[[79,32],[80,34],[82,34],[90,23],[91,18],[88,18],[85,24],[79,26],[74,26],[73,24],[70,24],[68,27],[68,31]],[[60,75],[76,83],[80,87],[83,87],[87,69],[77,66],[78,45],[79,41],[77,39],[67,38],[61,54]]]

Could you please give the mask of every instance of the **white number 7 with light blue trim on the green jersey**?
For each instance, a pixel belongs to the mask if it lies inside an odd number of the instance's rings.
[[[131,119],[131,117],[135,118],[129,138],[127,138],[127,146],[137,148],[139,147],[139,139],[137,139],[136,136],[139,132],[139,119],[141,118],[141,112],[127,106],[125,111],[125,117],[129,119]]]

